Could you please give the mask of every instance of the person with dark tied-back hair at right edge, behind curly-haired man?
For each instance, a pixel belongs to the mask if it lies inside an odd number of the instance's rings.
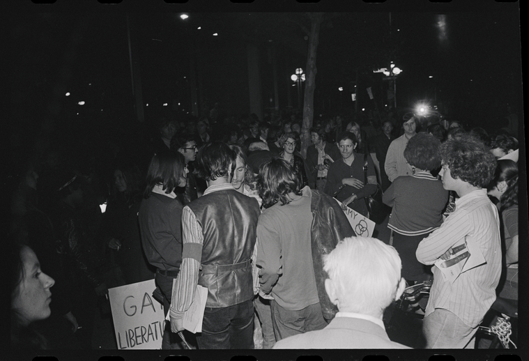
[[[499,201],[497,206],[503,220],[502,242],[507,268],[499,295],[518,300],[518,164],[514,160],[498,160],[488,188],[489,196]]]

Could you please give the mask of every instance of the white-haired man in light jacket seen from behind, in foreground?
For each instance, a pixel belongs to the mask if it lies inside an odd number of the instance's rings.
[[[278,341],[273,348],[408,348],[385,332],[384,309],[404,292],[397,251],[376,238],[344,238],[323,256],[325,291],[339,312],[323,330]]]

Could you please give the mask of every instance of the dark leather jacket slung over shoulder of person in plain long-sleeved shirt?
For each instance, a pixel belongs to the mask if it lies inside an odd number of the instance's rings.
[[[323,255],[335,249],[340,240],[356,236],[347,217],[335,199],[317,190],[312,193],[310,210],[312,212],[311,243],[312,263],[316,277],[316,289],[321,305],[321,312],[326,321],[335,317],[338,309],[330,302],[325,291],[327,272],[323,270]]]

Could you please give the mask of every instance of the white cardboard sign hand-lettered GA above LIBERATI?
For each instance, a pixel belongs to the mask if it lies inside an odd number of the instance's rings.
[[[118,350],[161,349],[164,307],[153,298],[154,279],[109,289]]]

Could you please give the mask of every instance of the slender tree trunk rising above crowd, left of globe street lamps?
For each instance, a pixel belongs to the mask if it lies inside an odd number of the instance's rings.
[[[307,157],[307,148],[310,143],[309,129],[312,128],[314,118],[314,89],[316,89],[316,50],[318,49],[320,25],[323,13],[311,13],[309,51],[307,54],[307,79],[305,79],[305,93],[303,97],[303,124],[301,128],[301,155]]]

